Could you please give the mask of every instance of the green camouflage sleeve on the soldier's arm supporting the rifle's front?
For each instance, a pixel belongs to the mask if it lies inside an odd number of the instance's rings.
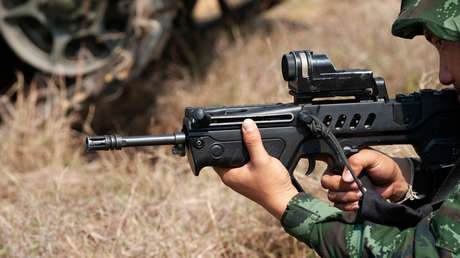
[[[405,230],[370,222],[360,224],[354,222],[351,213],[299,193],[289,202],[281,224],[321,257],[437,257],[457,252],[460,239],[456,232],[460,232],[460,224],[451,218],[452,214],[449,216],[447,225],[425,219],[417,227]],[[436,212],[433,220],[445,221],[446,217]]]

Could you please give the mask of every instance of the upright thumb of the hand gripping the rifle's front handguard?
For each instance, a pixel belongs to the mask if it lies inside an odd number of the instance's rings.
[[[251,119],[245,119],[242,131],[244,143],[248,149],[251,162],[265,162],[269,156],[262,143],[260,131],[256,123]]]

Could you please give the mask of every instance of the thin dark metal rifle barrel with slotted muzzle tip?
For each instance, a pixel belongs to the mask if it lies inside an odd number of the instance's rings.
[[[123,147],[152,146],[152,145],[173,145],[185,143],[184,133],[173,133],[164,135],[148,136],[120,136],[101,135],[87,136],[86,150],[120,150]]]

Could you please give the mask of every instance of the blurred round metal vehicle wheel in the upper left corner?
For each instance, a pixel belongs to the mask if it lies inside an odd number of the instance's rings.
[[[108,0],[2,0],[0,30],[35,68],[66,76],[100,69],[123,41],[129,12]]]

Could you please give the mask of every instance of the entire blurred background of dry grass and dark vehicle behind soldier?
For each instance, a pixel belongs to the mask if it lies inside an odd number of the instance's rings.
[[[0,257],[315,257],[212,169],[170,147],[86,153],[84,136],[165,134],[187,106],[291,102],[291,50],[439,88],[399,0],[1,0]],[[414,155],[408,146],[386,146]],[[320,199],[324,166],[298,177]]]

